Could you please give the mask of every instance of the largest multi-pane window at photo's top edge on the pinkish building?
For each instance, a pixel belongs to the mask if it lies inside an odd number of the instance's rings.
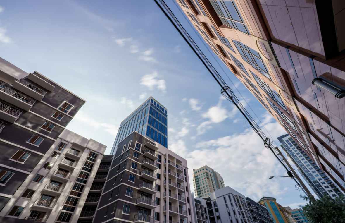
[[[221,23],[249,35],[249,30],[236,6],[235,1],[210,1]]]

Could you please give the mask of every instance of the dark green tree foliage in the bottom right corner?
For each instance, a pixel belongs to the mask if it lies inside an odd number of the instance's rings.
[[[301,196],[303,197],[303,196]],[[309,222],[312,223],[345,223],[345,197],[340,196],[332,199],[324,196],[321,199],[310,199],[307,196],[304,200],[309,201],[302,207]]]

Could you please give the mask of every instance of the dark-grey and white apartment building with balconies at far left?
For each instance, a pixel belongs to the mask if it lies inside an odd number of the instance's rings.
[[[0,222],[76,222],[106,146],[66,125],[85,100],[0,58]]]

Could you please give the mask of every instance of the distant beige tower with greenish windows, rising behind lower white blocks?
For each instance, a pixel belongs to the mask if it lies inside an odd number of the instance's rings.
[[[193,169],[194,191],[198,197],[208,197],[212,192],[224,187],[223,177],[209,166]]]

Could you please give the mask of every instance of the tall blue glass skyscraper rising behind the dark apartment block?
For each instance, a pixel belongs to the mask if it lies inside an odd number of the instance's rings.
[[[118,143],[134,131],[168,148],[168,110],[153,97],[145,100],[121,122],[110,154],[115,154]]]

